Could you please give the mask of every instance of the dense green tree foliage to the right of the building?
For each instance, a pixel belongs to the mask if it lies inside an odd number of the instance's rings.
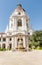
[[[35,31],[32,36],[30,36],[31,46],[42,47],[42,31]]]

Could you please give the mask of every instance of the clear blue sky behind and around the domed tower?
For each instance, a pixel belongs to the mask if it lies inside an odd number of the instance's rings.
[[[9,24],[9,17],[20,3],[30,17],[33,30],[42,30],[42,0],[0,0],[0,32]]]

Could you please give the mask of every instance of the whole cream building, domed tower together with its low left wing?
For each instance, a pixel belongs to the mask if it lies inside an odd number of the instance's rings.
[[[11,50],[28,49],[29,16],[22,8],[17,5],[9,19],[9,24],[4,33],[0,33],[0,48]]]

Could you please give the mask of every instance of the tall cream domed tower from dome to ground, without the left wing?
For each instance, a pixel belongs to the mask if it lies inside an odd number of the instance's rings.
[[[28,48],[28,30],[29,17],[21,4],[17,5],[9,20],[8,31],[13,38],[13,48],[27,49]]]

